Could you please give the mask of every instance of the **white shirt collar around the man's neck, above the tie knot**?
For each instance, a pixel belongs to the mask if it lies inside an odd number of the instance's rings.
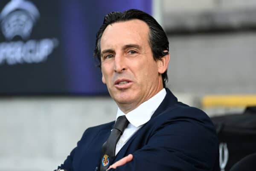
[[[125,115],[127,120],[134,125],[135,127],[139,127],[147,123],[154,112],[157,110],[158,106],[162,103],[164,97],[166,96],[166,89],[163,88],[156,95],[148,99],[147,101],[141,103],[137,108],[128,112],[126,115],[124,112],[117,109],[116,119],[119,116]]]

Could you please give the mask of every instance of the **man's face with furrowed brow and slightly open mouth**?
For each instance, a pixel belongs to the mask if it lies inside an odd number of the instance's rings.
[[[130,20],[108,25],[102,34],[102,82],[125,113],[163,88],[161,60],[153,59],[148,33],[145,22]]]

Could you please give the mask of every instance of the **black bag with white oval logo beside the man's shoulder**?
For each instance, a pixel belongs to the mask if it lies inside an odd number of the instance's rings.
[[[221,171],[230,168],[243,157],[256,152],[256,106],[242,114],[212,117],[220,149]]]

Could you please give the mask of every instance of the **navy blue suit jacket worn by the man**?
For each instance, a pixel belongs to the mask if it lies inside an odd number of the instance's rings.
[[[177,102],[169,89],[166,91],[151,119],[128,140],[115,159],[133,154],[133,160],[111,171],[219,171],[218,138],[211,120],[198,108]],[[88,128],[58,168],[97,170],[102,144],[113,124]]]

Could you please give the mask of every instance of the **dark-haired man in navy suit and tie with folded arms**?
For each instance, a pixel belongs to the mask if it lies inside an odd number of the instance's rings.
[[[116,127],[119,121],[88,128],[58,169],[219,170],[218,139],[209,117],[177,102],[165,88],[169,42],[153,17],[138,10],[107,14],[96,37],[95,56],[102,82],[118,105],[117,120],[124,116],[129,122],[122,131]],[[115,144],[117,133],[121,137]]]

